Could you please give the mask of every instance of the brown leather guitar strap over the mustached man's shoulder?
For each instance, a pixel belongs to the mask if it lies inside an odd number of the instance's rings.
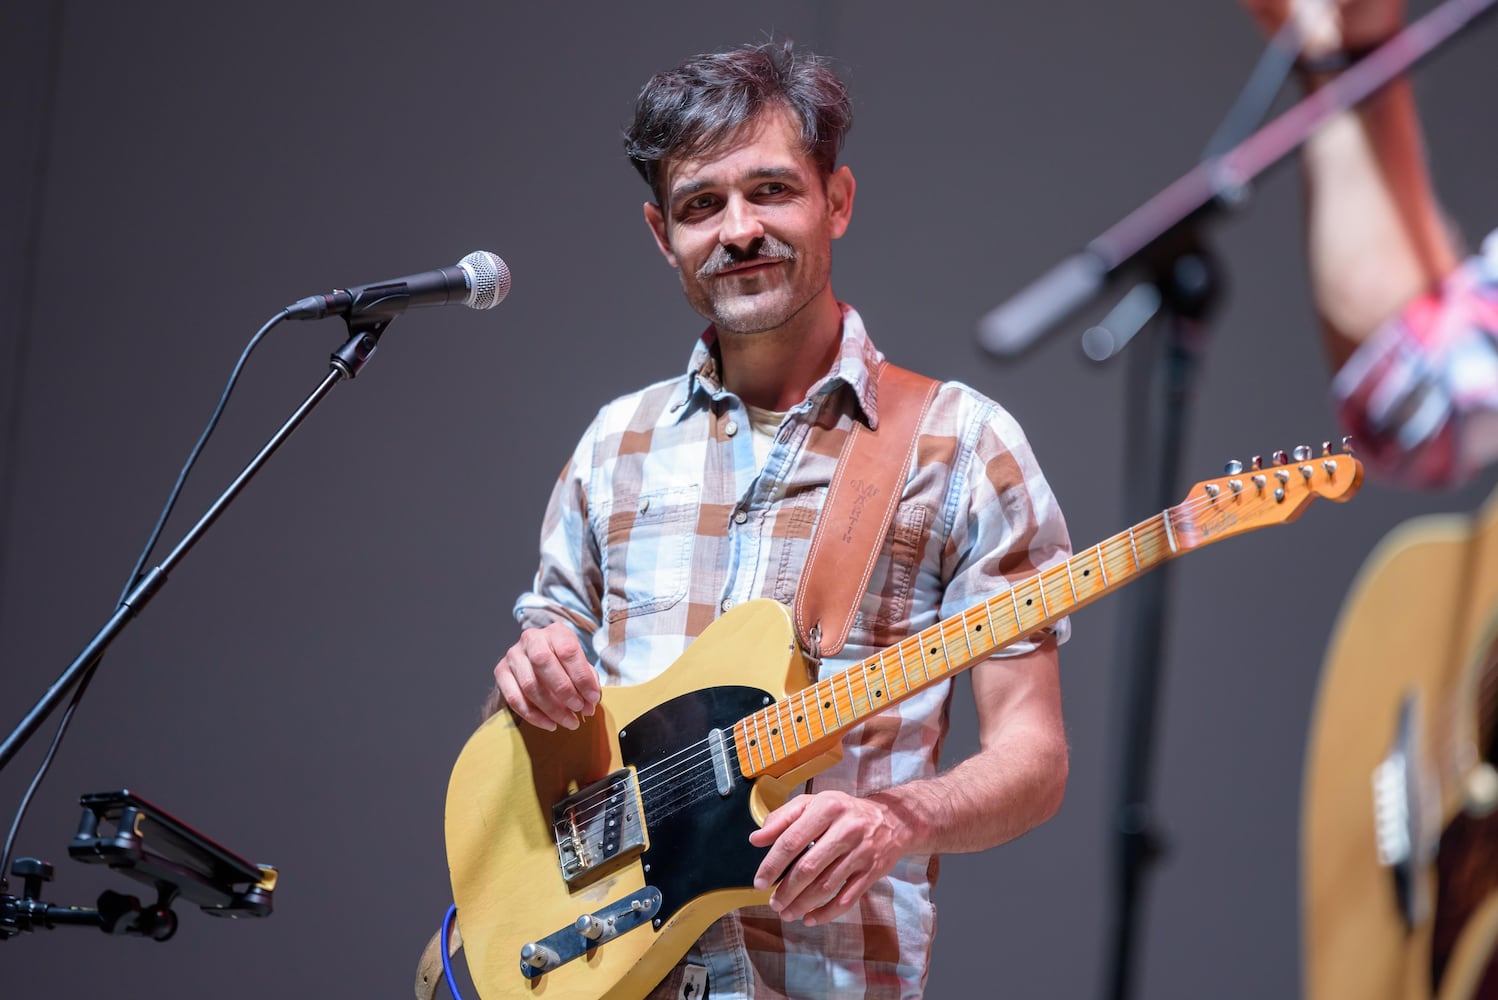
[[[879,428],[855,421],[812,533],[795,591],[795,633],[813,662],[836,656],[879,557],[939,382],[891,364],[875,373]]]

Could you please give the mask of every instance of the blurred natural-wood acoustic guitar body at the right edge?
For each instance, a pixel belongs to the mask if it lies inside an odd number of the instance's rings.
[[[1342,608],[1302,808],[1308,1000],[1498,997],[1498,493],[1392,531]]]

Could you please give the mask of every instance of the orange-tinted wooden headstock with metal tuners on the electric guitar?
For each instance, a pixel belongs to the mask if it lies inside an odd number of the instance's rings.
[[[1344,439],[1344,448],[1347,439]],[[1291,454],[1275,452],[1269,464],[1257,455],[1245,469],[1227,464],[1227,475],[1198,482],[1185,500],[1170,509],[1182,548],[1194,548],[1240,531],[1294,521],[1317,497],[1338,503],[1351,500],[1363,485],[1363,464],[1351,452],[1321,454],[1300,445]]]

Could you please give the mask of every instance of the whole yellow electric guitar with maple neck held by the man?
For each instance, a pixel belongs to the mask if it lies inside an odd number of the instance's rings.
[[[840,757],[848,729],[1167,560],[1362,484],[1351,455],[1276,457],[1233,463],[1153,518],[816,683],[788,609],[752,600],[655,680],[605,687],[580,729],[497,713],[458,756],[446,801],[475,987],[488,1000],[646,996],[713,921],[768,900],[753,888],[767,849],[749,832]]]

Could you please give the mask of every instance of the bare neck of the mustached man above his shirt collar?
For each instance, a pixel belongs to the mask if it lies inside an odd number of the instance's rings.
[[[718,331],[724,388],[749,406],[789,410],[831,370],[840,346],[842,307],[828,289],[777,329]]]

